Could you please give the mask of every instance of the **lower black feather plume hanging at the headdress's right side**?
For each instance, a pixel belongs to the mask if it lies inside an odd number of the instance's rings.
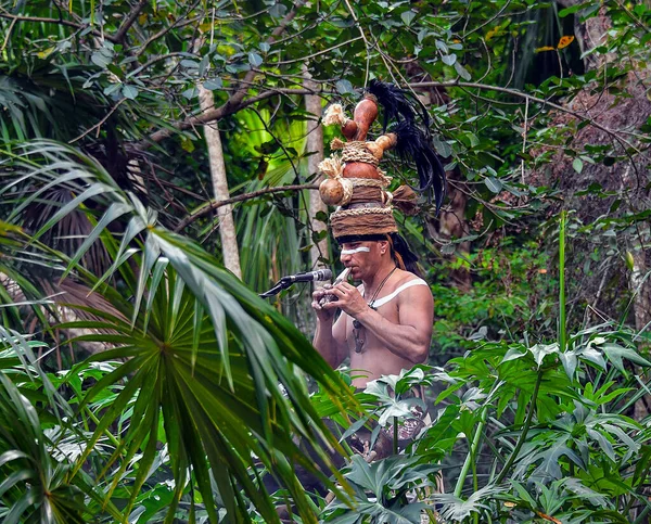
[[[399,122],[392,128],[392,132],[398,137],[395,151],[400,161],[406,165],[413,164],[416,166],[419,187],[410,184],[411,189],[420,193],[427,193],[430,201],[433,192],[436,214],[438,214],[446,195],[445,168],[434,151],[430,138],[410,120]]]

